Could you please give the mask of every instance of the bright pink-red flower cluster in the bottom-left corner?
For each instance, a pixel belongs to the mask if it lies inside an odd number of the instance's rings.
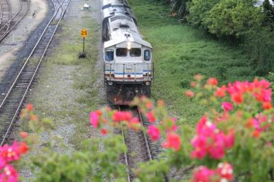
[[[18,173],[10,162],[17,161],[22,154],[27,153],[27,144],[14,142],[12,146],[5,144],[0,147],[0,181],[17,182]]]

